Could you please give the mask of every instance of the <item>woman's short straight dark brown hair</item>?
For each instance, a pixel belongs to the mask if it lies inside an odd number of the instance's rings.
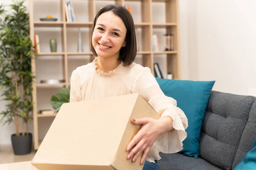
[[[134,62],[134,59],[137,55],[137,40],[136,40],[133,18],[131,16],[131,13],[124,6],[111,4],[99,10],[99,12],[96,14],[96,17],[93,21],[92,31],[90,34],[90,41],[91,41],[90,48],[93,54],[96,57],[98,57],[95,49],[93,48],[93,43],[92,43],[93,31],[94,31],[94,27],[98,17],[104,12],[108,12],[108,11],[112,11],[114,14],[120,17],[125,24],[125,27],[127,29],[126,36],[125,36],[126,45],[125,47],[122,47],[120,49],[119,59],[122,62],[124,62],[124,66],[131,65],[131,63]]]

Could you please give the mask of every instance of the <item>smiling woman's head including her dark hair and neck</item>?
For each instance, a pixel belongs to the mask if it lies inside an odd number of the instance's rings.
[[[114,69],[121,61],[124,66],[134,61],[137,54],[134,21],[123,6],[108,5],[102,8],[94,19],[91,34],[91,49],[96,57],[101,58],[99,65],[102,65],[100,62],[103,59],[107,59]],[[111,67],[105,71],[110,70]]]

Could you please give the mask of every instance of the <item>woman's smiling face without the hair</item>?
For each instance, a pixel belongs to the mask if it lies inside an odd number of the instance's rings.
[[[120,48],[125,46],[126,28],[122,19],[112,11],[101,14],[92,36],[93,48],[98,57],[119,57]]]

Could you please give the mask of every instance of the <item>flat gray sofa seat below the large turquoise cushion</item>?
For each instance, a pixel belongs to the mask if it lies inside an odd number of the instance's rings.
[[[160,170],[221,170],[201,158],[193,158],[180,153],[160,153],[157,161]]]

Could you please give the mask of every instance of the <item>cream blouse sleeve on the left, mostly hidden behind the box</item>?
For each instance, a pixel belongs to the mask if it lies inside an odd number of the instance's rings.
[[[79,91],[79,77],[76,73],[76,70],[74,70],[70,78],[70,102],[79,101]]]

